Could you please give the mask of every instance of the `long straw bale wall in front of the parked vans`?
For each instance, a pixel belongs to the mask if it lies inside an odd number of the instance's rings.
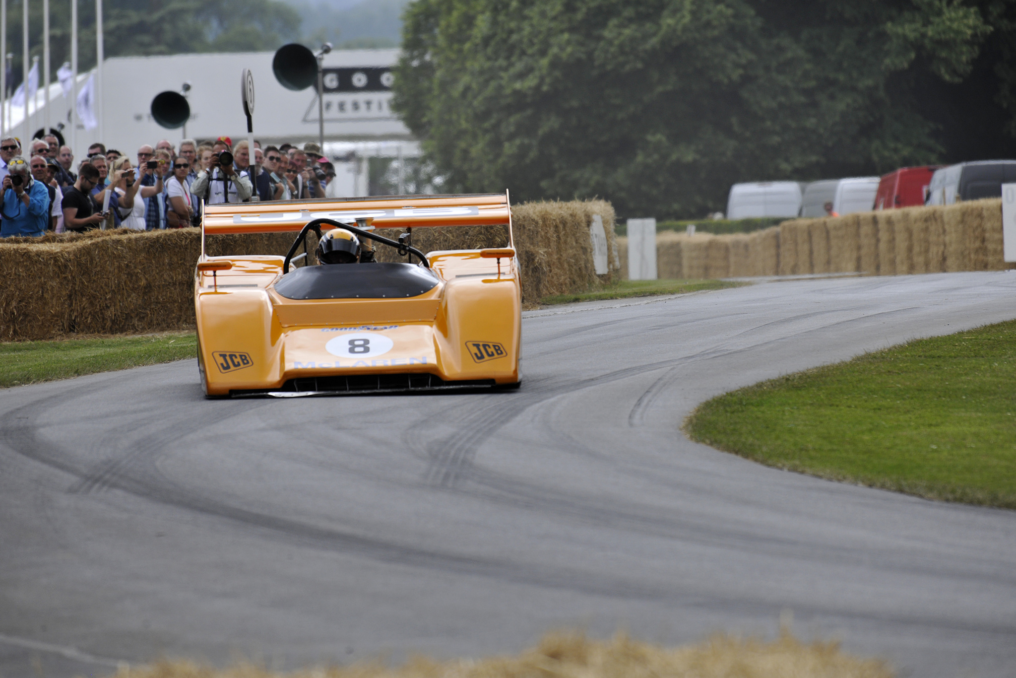
[[[748,234],[663,232],[656,236],[656,265],[661,279],[1016,268],[1003,260],[997,198],[797,219]]]

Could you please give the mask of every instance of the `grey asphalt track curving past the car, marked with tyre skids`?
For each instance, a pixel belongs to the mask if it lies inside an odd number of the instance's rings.
[[[696,404],[1016,317],[1016,273],[533,311],[516,392],[204,400],[194,361],[0,391],[0,675],[514,652],[544,631],[840,637],[1016,673],[1016,513],[689,442]]]

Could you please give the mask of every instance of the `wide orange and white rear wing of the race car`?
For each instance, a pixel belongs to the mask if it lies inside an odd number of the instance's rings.
[[[509,247],[515,247],[508,191],[469,195],[396,195],[364,198],[316,198],[205,204],[204,235],[227,233],[299,232],[315,219],[356,224],[372,220],[377,229],[438,226],[507,226]]]

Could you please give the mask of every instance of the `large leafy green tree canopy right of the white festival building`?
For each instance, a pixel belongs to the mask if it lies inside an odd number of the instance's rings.
[[[916,84],[990,32],[957,0],[418,0],[395,106],[448,190],[687,218],[738,181],[938,160]]]

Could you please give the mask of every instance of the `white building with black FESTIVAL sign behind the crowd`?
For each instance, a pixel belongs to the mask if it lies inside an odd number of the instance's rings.
[[[316,87],[292,91],[282,87],[272,73],[273,52],[237,54],[178,54],[155,57],[106,59],[102,91],[97,94],[98,127],[85,129],[77,123],[74,156],[84,158],[88,144],[101,140],[133,157],[144,143],[160,139],[174,143],[186,136],[213,139],[219,135],[239,141],[247,135],[247,118],[241,101],[240,75],[249,68],[254,76],[254,136],[262,145],[303,143],[318,140]],[[420,155],[419,143],[391,111],[390,68],[398,50],[334,50],[324,57],[324,139],[325,153],[346,156],[356,162],[336,165],[336,180],[350,182],[346,195],[367,194],[368,157],[412,158]],[[79,75],[78,89],[89,74]],[[190,119],[183,128],[165,129],[152,118],[150,106],[155,95],[180,91],[185,82]],[[43,126],[45,95],[41,88],[36,104],[29,104],[29,125],[22,124],[21,108],[6,111],[5,129],[22,139]],[[50,123],[63,122],[68,143],[70,98],[59,83],[50,87]],[[31,130],[26,134],[27,129]]]

